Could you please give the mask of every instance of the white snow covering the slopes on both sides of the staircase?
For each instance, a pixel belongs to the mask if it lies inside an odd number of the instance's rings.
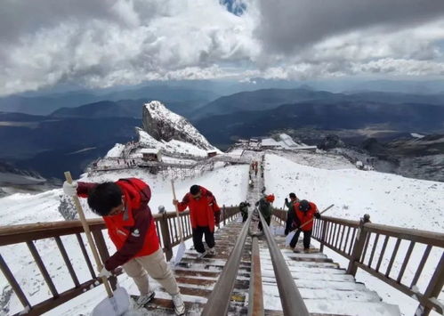
[[[287,194],[294,191],[300,199],[310,199],[315,202],[319,209],[335,204],[335,207],[329,210],[326,215],[359,220],[360,216],[367,213],[373,223],[427,231],[444,231],[444,222],[442,221],[444,183],[442,182],[360,171],[342,158],[317,153],[280,153],[280,155],[282,157],[269,154],[265,158],[266,193],[275,194],[275,207],[282,207]],[[192,184],[200,184],[213,191],[221,206],[223,204],[238,205],[239,201],[246,198],[247,175],[248,166],[228,166],[216,168],[213,172],[194,179],[177,180],[175,182],[177,198],[182,199]],[[93,175],[89,178],[84,175],[81,180],[104,182],[132,176],[139,177],[149,183],[152,189],[152,199],[149,206],[153,213],[157,213],[157,207],[161,205],[165,206],[167,211],[174,210],[171,182],[167,178],[162,178],[160,174],[149,174],[144,169],[130,169]],[[60,195],[61,189],[35,195],[14,194],[0,199],[2,224],[62,220],[57,211]],[[82,204],[88,218],[96,216],[87,210],[85,199],[82,199]],[[70,237],[64,237],[62,240],[69,255],[73,258],[73,265],[79,280],[81,282],[89,280],[91,275],[89,275],[82,259],[83,256],[77,246],[77,241]],[[109,240],[107,241],[109,242]],[[190,244],[190,240],[188,241]],[[314,241],[313,244],[315,244]],[[393,244],[394,242],[391,240],[386,253],[390,254]],[[405,254],[407,246],[401,243],[400,256]],[[71,287],[72,281],[55,243],[52,240],[41,240],[36,242],[36,247],[44,258],[44,263],[51,268],[50,271],[56,280],[57,289],[62,291]],[[109,247],[112,248],[110,245]],[[31,303],[50,296],[49,289],[44,285],[44,280],[36,265],[32,263],[33,259],[25,245],[1,247],[0,250],[16,279],[23,285],[25,292],[30,295]],[[346,267],[347,261],[340,255],[327,249],[326,254],[340,263],[342,267]],[[422,248],[415,247],[412,263],[417,264],[422,254]],[[432,262],[436,263],[439,254],[432,252],[430,258]],[[388,261],[389,258],[384,256],[382,266],[387,266]],[[412,279],[416,270],[415,264],[408,264],[405,273],[407,280]],[[426,265],[424,275],[430,276],[432,269],[430,264]],[[400,263],[395,263],[392,271],[396,273],[399,270]],[[136,293],[132,280],[129,280],[125,275],[119,277],[119,280],[130,292]],[[365,282],[368,288],[375,289],[385,302],[399,304],[404,314],[414,312],[416,301],[402,295],[396,289],[375,280],[363,271],[358,272],[357,280]],[[403,280],[405,279],[403,278]],[[6,284],[3,274],[1,274],[0,291],[8,291],[8,289],[4,289]],[[424,284],[420,284],[421,287],[424,287]],[[104,297],[103,289],[98,288],[88,292],[88,294],[80,296],[76,300],[48,312],[48,314],[85,314],[85,312],[90,312],[97,303],[97,297]],[[11,313],[19,312],[22,309],[20,302],[14,295],[12,295],[9,308]]]

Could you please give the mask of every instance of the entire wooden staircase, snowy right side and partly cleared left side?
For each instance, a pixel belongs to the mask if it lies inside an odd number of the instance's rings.
[[[200,315],[202,312],[242,228],[239,220],[240,217],[238,221],[227,224],[214,234],[216,255],[206,255],[198,259],[197,253],[190,249],[183,256],[182,262],[174,267],[187,315]],[[383,303],[375,291],[356,282],[327,255],[317,249],[312,249],[310,254],[295,254],[284,246],[285,236],[275,236],[275,239],[311,315],[400,315],[398,306]],[[251,239],[246,240],[238,277],[231,294],[230,315],[246,315],[248,311]],[[263,237],[259,244],[265,315],[283,315],[269,250]],[[149,281],[156,291],[156,297],[146,305],[146,309],[140,309],[137,314],[174,315],[171,296],[155,280]]]

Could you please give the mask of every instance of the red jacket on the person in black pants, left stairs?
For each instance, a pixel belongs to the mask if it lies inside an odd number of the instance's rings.
[[[200,199],[194,199],[189,192],[185,194],[182,202],[177,207],[179,212],[184,211],[187,207],[190,208],[191,226],[193,228],[208,226],[210,231],[214,231],[214,223],[219,223],[221,208],[217,205],[213,193],[204,187],[199,186],[199,188],[202,192]]]

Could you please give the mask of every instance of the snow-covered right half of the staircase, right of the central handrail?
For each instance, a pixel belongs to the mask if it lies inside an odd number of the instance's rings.
[[[375,291],[346,274],[319,249],[311,248],[309,254],[296,254],[285,247],[285,236],[275,236],[275,240],[311,315],[400,315],[397,305],[383,303]],[[260,240],[260,247],[263,293],[276,295],[273,304],[268,306],[273,310],[269,314],[283,315],[265,240]],[[302,240],[296,248],[303,248]],[[264,306],[267,307],[265,302]]]

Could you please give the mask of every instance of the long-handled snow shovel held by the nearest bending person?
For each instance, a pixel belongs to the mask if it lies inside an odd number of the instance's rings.
[[[72,177],[71,173],[69,171],[65,172],[65,178],[67,179],[67,182],[72,183]],[[103,268],[103,265],[101,264],[101,257],[99,256],[97,249],[95,247],[95,243],[93,240],[93,236],[91,235],[91,231],[89,229],[88,224],[86,223],[86,218],[84,214],[84,210],[82,209],[82,206],[80,205],[80,201],[78,200],[77,195],[72,197],[74,199],[74,204],[77,208],[78,217],[80,217],[80,221],[82,222],[82,226],[84,227],[84,231],[86,234],[86,238],[88,239],[88,243],[91,247],[91,251],[93,252],[93,256],[95,259],[95,263],[97,265],[97,271],[101,271]],[[109,286],[108,278],[102,277],[101,281],[103,282],[103,285],[105,286],[108,297],[103,299],[101,303],[99,303],[97,306],[93,309],[93,316],[119,316],[123,315],[125,312],[128,311],[130,307],[130,300],[128,293],[126,292],[125,288],[117,288],[116,291],[112,291],[111,287]]]

